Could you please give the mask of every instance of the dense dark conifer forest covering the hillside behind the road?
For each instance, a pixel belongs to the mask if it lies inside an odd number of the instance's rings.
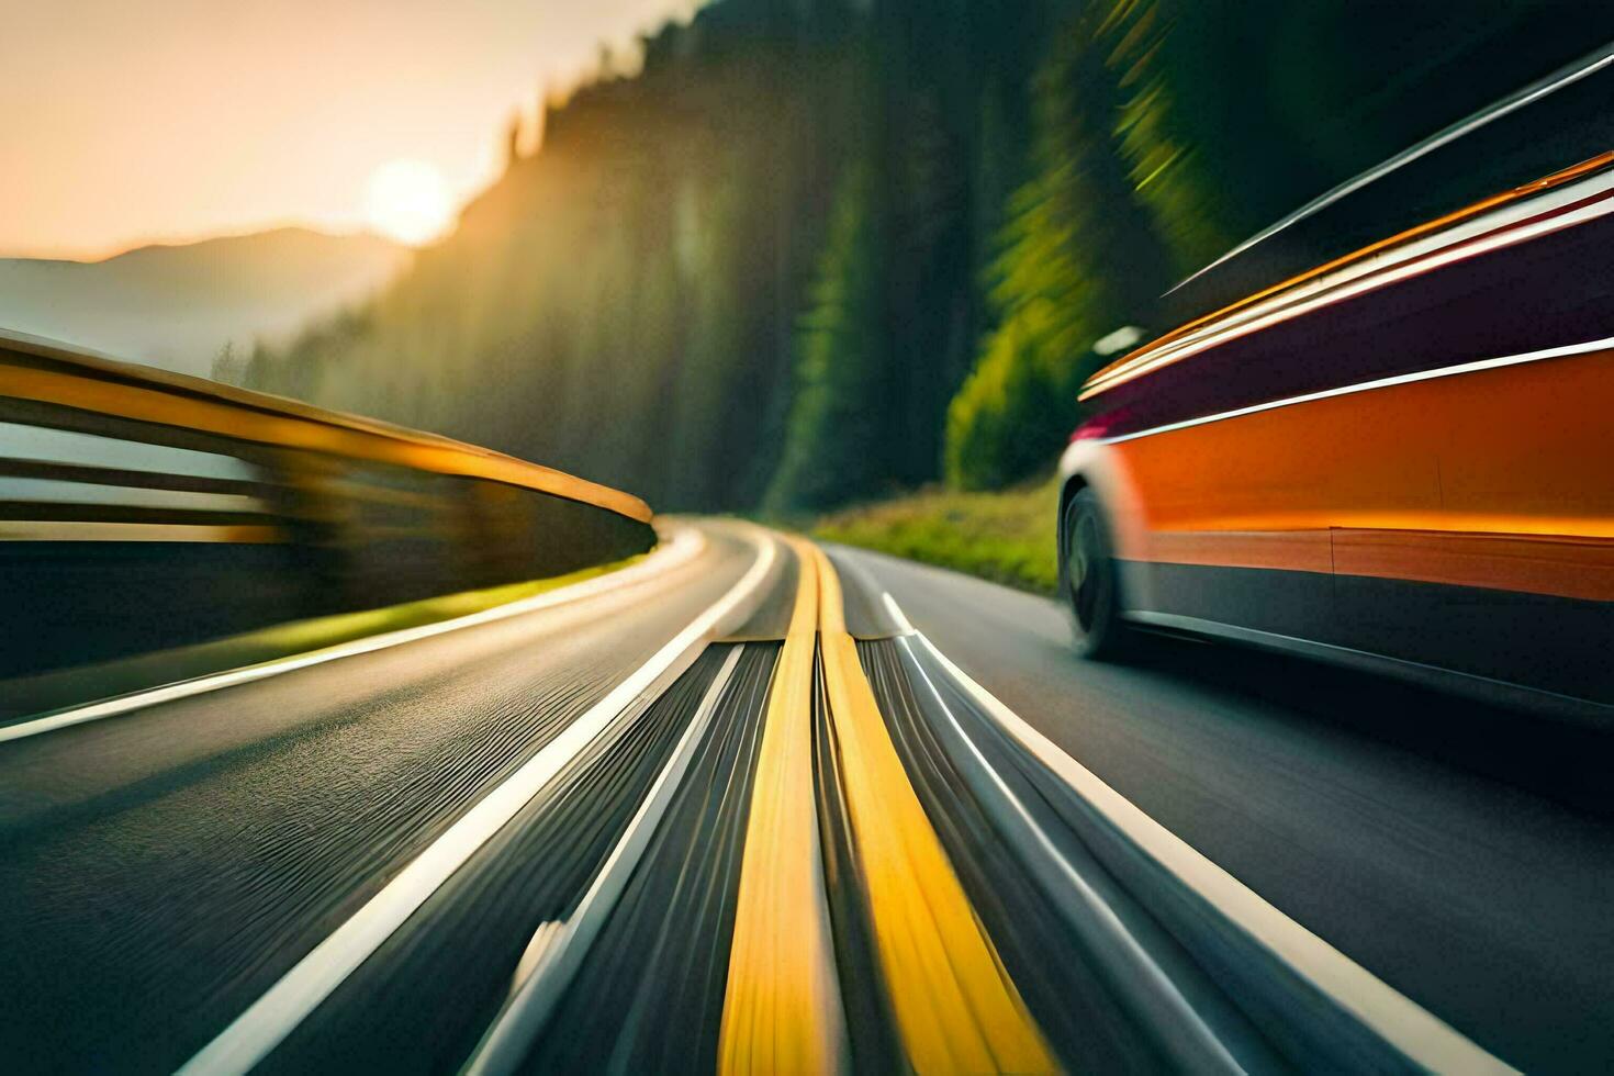
[[[659,508],[1002,486],[1181,276],[1596,44],[1480,13],[721,0],[370,307],[220,373]]]

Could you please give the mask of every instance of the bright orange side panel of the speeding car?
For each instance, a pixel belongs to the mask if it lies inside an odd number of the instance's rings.
[[[1614,350],[1330,395],[1125,442],[1156,532],[1344,528],[1614,537],[1596,452]],[[1372,421],[1364,421],[1370,411]],[[1509,431],[1498,437],[1496,431]],[[1286,452],[1306,444],[1307,452]],[[1528,444],[1530,453],[1514,445]],[[1241,476],[1228,487],[1215,458]],[[1165,557],[1151,555],[1154,560]],[[1495,586],[1480,573],[1470,582]],[[1590,597],[1590,595],[1588,595]]]

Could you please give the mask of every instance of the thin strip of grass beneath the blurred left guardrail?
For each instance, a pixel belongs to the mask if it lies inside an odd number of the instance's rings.
[[[366,639],[389,631],[420,628],[439,621],[481,613],[499,605],[557,590],[584,579],[620,571],[644,560],[644,553],[610,565],[583,568],[565,576],[510,582],[484,590],[462,590],[404,605],[334,613],[312,619],[273,624],[257,631],[199,642],[171,650],[137,653],[97,665],[52,669],[32,676],[0,681],[0,723],[32,716],[63,707],[111,699],[147,687],[279,661],[315,650]]]

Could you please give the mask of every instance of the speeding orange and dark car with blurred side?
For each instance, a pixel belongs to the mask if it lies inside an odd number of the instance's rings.
[[[1403,198],[1425,218],[1275,284],[1244,256],[1249,294],[1089,377],[1060,460],[1077,649],[1164,629],[1614,718],[1609,145]]]

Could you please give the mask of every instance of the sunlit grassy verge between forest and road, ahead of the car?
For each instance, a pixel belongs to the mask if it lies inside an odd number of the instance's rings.
[[[993,494],[922,489],[822,516],[813,537],[1054,594],[1057,476]]]

